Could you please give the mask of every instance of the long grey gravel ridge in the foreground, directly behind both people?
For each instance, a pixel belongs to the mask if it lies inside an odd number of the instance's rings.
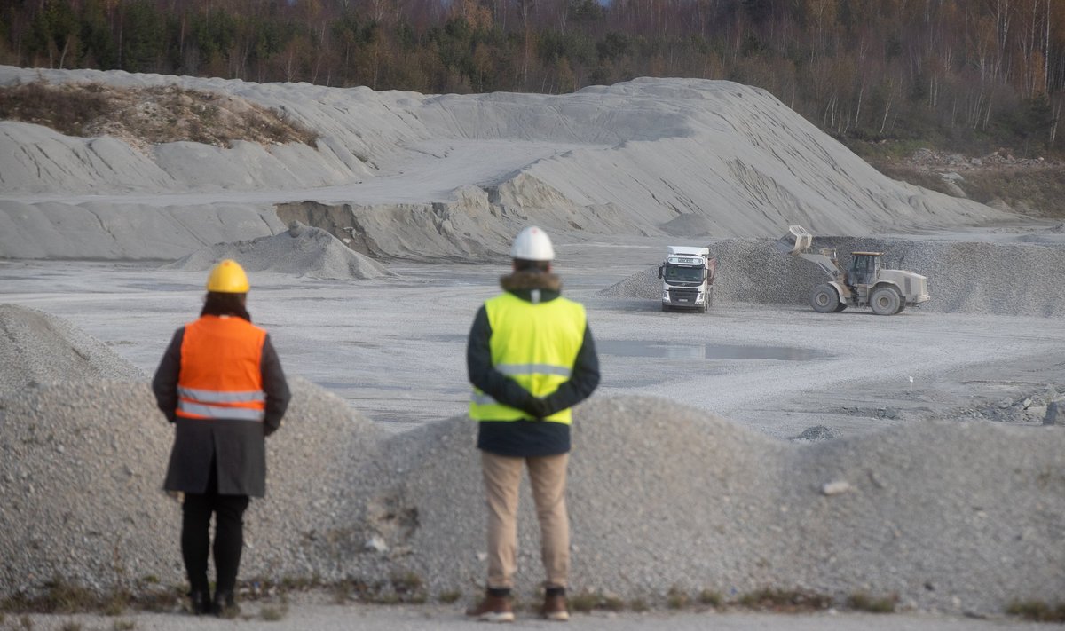
[[[456,417],[384,437],[340,399],[292,382],[242,576],[417,576],[430,594],[475,593],[485,515],[474,424]],[[56,576],[98,589],[183,581],[178,505],[160,490],[171,431],[146,384],[56,383],[0,406],[0,594]],[[651,601],[674,586],[861,590],[993,613],[1065,588],[1060,428],[911,423],[798,444],[653,398],[594,398],[576,416],[575,589]],[[826,495],[829,483],[842,492]],[[527,593],[540,575],[527,487],[522,502]]]

